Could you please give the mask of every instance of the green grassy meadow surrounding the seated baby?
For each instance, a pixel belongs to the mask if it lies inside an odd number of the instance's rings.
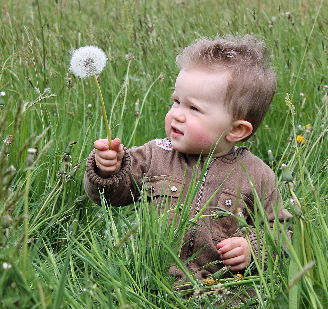
[[[265,39],[273,55],[277,93],[256,134],[238,145],[275,171],[294,216],[280,234],[256,197],[258,238],[276,257],[263,252],[255,275],[228,272],[213,286],[186,272],[187,294],[167,267],[183,268],[180,240],[195,222],[188,200],[174,229],[149,212],[147,196],[115,209],[84,194],[86,159],[106,129],[93,79],[68,69],[70,51],[105,51],[99,83],[112,136],[133,147],[166,136],[180,49],[225,33]],[[2,0],[0,308],[328,308],[327,72],[323,0]],[[185,188],[189,196],[198,184]],[[235,305],[249,288],[257,297]]]

